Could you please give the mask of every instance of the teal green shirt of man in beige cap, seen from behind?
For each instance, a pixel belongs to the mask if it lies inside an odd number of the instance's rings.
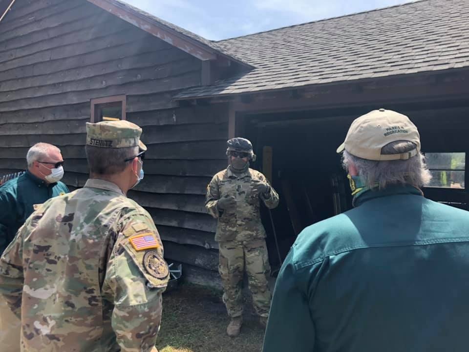
[[[278,274],[263,352],[469,349],[469,212],[368,191],[304,229]]]

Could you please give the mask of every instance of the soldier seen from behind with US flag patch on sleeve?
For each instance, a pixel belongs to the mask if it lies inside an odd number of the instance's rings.
[[[21,351],[149,352],[169,279],[149,215],[126,197],[143,178],[141,128],[86,124],[90,179],[29,217],[0,260]]]

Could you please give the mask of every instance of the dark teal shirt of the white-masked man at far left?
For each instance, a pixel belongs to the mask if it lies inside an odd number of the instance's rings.
[[[35,204],[68,193],[62,182],[47,184],[26,171],[0,186],[0,255],[33,213]]]

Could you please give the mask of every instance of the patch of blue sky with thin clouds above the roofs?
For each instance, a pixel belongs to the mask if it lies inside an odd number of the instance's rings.
[[[410,0],[125,0],[206,39],[221,40]]]

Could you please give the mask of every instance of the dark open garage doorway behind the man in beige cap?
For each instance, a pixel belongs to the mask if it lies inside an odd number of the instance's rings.
[[[252,167],[270,178],[280,196],[279,206],[270,214],[262,207],[274,272],[280,265],[278,257],[285,258],[304,227],[351,208],[348,179],[336,149],[356,117],[379,108],[381,106],[243,116],[242,130],[252,140],[257,155]],[[433,187],[424,189],[426,197],[468,209],[465,189],[469,152],[467,103],[386,104],[384,108],[407,114],[420,131],[422,152],[433,153],[432,160],[447,161],[446,166],[436,166],[443,169],[432,172],[438,180],[432,183]],[[451,161],[452,155],[458,157],[457,163]],[[450,167],[456,169],[450,170]],[[447,184],[439,184],[440,175]]]

